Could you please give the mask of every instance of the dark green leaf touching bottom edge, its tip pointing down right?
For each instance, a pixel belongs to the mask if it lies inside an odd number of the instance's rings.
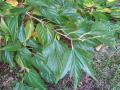
[[[34,88],[39,88],[39,90],[47,90],[39,74],[34,70],[30,70],[25,74],[24,81]]]

